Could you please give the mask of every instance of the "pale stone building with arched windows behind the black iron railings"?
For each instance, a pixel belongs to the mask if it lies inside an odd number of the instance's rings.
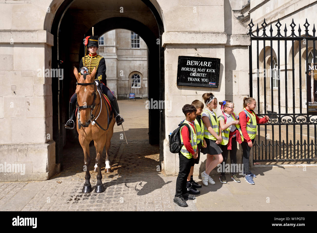
[[[275,36],[277,34],[277,27],[275,24],[279,20],[281,23],[281,33],[284,36],[284,29],[286,26],[287,36],[290,36],[292,33],[292,21],[294,20],[294,33],[297,36],[304,36],[305,31],[305,23],[306,20],[310,26],[308,27],[309,34],[313,34],[314,24],[317,22],[315,14],[312,12],[316,12],[317,5],[316,1],[272,1],[272,0],[254,0],[248,1],[246,5],[243,5],[241,9],[235,9],[236,17],[242,22],[249,24],[250,19],[252,19],[253,24],[255,25],[252,28],[252,32],[256,34],[256,26],[258,25],[260,30],[260,35],[262,34],[262,23],[265,19],[265,22],[268,24],[266,27],[267,35],[270,35],[270,26],[272,25],[272,34]],[[299,35],[298,29],[301,29],[301,35]],[[249,28],[249,27],[248,27]],[[299,45],[301,43],[301,45]],[[306,49],[306,44],[307,49]],[[314,53],[313,53],[313,41],[295,41],[294,47],[292,45],[292,41],[287,41],[286,43],[281,42],[281,51],[280,51],[280,69],[278,70],[278,42],[273,41],[272,46],[270,43],[266,43],[265,48],[263,47],[263,43],[259,43],[259,78],[260,85],[258,87],[257,84],[257,63],[256,63],[256,47],[252,47],[252,76],[253,76],[253,87],[255,89],[260,89],[260,103],[258,107],[260,108],[260,112],[264,113],[264,81],[266,82],[266,108],[268,110],[272,109],[272,89],[273,89],[273,112],[278,112],[278,91],[282,93],[280,97],[281,101],[281,112],[292,112],[293,111],[293,99],[295,101],[295,112],[299,113],[300,110],[303,113],[307,113],[307,81],[306,81],[306,63],[314,62]],[[299,51],[299,47],[301,47],[301,51]],[[272,57],[270,50],[272,48]],[[285,53],[286,49],[286,53]],[[293,53],[294,49],[294,53]],[[265,50],[265,51],[264,51]],[[306,58],[307,53],[307,58]],[[265,57],[264,57],[265,54]],[[286,56],[285,56],[286,54]],[[315,57],[317,56],[317,50],[315,49]],[[292,61],[294,57],[294,62]],[[271,62],[272,60],[272,62]],[[285,62],[286,61],[286,62]],[[294,75],[293,75],[293,63],[294,63]],[[301,68],[300,68],[301,63]],[[286,75],[287,75],[287,78]],[[301,85],[299,85],[301,76]],[[273,78],[273,83],[271,81],[271,77]],[[293,77],[294,77],[294,94],[293,94]],[[282,85],[278,85],[278,81]],[[288,87],[288,88],[287,88]],[[287,88],[287,89],[286,89]],[[285,92],[287,92],[287,100],[285,99]],[[301,102],[300,100],[300,92],[302,95]],[[254,93],[254,98],[258,98],[257,92]],[[286,105],[287,103],[287,105]],[[288,109],[286,109],[286,106]],[[300,107],[302,106],[302,107]],[[269,111],[272,112],[272,111]]]

